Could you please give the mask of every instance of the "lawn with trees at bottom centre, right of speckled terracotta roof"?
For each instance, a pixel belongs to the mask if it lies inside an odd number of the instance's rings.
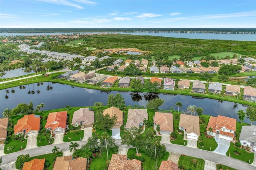
[[[144,170],[153,170],[155,169],[156,164],[157,164],[157,167],[159,168],[162,160],[167,160],[169,156],[169,152],[166,152],[162,158],[157,158],[155,160],[148,157],[146,154],[144,154],[144,152],[140,152],[140,153],[141,153],[141,156],[145,158],[145,162],[142,162],[142,166]],[[130,157],[131,154],[136,154],[136,148],[130,148],[128,150],[128,153],[127,153],[128,158],[131,158]]]

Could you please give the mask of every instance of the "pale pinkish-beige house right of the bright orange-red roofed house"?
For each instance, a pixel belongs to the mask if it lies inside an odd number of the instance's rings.
[[[72,123],[74,127],[81,125],[81,128],[92,127],[94,123],[94,111],[91,111],[88,107],[80,108],[74,111]]]

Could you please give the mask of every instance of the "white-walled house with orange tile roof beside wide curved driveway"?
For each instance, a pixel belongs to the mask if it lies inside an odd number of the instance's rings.
[[[216,136],[219,138],[233,141],[234,132],[236,131],[236,119],[220,116],[211,116],[206,128],[208,135]]]

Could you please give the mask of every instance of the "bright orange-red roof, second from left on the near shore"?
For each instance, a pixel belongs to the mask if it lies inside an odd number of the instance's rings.
[[[66,129],[67,111],[49,113],[45,128],[52,127],[52,130],[60,127]]]

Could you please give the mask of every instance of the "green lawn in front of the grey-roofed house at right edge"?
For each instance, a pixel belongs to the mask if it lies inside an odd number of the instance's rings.
[[[226,156],[228,156],[228,154],[230,153],[230,156],[232,158],[236,158],[236,159],[242,160],[242,161],[247,162],[247,163],[248,163],[249,160],[251,160],[250,164],[253,162],[254,153],[249,153],[249,152],[246,152],[246,150],[238,148],[238,150],[240,151],[241,154],[237,155],[237,154],[234,153],[234,150],[236,148],[237,147],[234,146],[234,143],[231,142],[230,146],[228,148],[228,152],[226,153]]]

